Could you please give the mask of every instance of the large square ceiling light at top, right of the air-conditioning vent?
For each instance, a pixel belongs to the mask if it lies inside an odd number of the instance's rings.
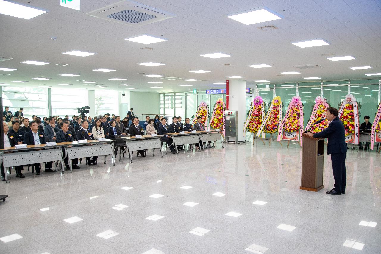
[[[282,19],[282,16],[272,11],[268,8],[261,8],[255,11],[249,11],[244,13],[239,13],[231,16],[227,16],[228,18],[234,19],[240,23],[245,25],[257,24],[266,21],[272,21],[276,19]]]

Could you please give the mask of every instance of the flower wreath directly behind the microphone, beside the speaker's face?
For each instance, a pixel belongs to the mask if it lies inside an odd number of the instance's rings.
[[[327,108],[329,107],[327,100],[323,97],[317,96],[315,99],[315,106],[312,108],[311,117],[308,121],[308,124],[306,126],[306,130],[308,130],[312,124],[316,121],[319,121],[323,117],[325,117],[325,113],[327,112]],[[328,120],[324,120],[320,124],[315,124],[311,132],[317,133],[321,132],[322,130],[326,129],[328,127]]]

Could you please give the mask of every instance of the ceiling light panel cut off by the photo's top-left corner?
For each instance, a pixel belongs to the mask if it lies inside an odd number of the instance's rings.
[[[37,9],[29,5],[0,0],[0,14],[22,19],[31,19],[46,12],[46,10]]]

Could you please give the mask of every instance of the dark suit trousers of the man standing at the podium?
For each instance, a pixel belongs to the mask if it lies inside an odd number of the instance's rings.
[[[345,186],[347,185],[347,172],[345,168],[346,157],[347,153],[331,154],[333,178],[335,179],[335,184],[333,186],[338,193],[345,191]]]

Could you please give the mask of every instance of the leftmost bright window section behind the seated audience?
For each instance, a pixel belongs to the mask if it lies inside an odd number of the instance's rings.
[[[3,108],[9,107],[14,113],[23,108],[24,117],[32,115],[48,116],[48,89],[31,87],[5,87],[3,86]]]

